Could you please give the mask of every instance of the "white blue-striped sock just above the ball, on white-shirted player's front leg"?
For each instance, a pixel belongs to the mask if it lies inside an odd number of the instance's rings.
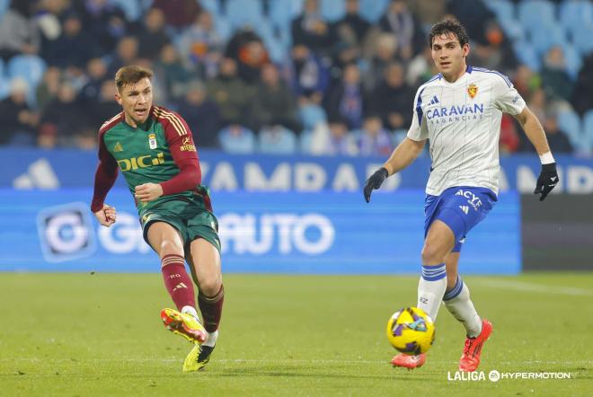
[[[418,283],[418,308],[429,314],[433,322],[437,321],[438,307],[443,301],[446,289],[445,263],[433,266],[422,265],[422,277]]]

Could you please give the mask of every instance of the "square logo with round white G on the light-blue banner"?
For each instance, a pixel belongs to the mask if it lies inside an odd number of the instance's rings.
[[[70,203],[49,207],[37,216],[41,251],[49,262],[91,256],[96,249],[88,206]]]

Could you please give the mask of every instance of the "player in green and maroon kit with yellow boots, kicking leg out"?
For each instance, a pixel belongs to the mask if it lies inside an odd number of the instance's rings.
[[[197,371],[209,360],[218,336],[225,290],[220,270],[217,218],[201,171],[190,128],[181,116],[153,105],[152,71],[121,67],[115,98],[123,111],[99,130],[99,166],[91,209],[101,225],[116,222],[104,203],[121,172],[128,183],[144,239],[161,260],[164,285],[177,310],[164,309],[165,327],[194,344],[183,371]],[[192,278],[198,287],[199,322]]]

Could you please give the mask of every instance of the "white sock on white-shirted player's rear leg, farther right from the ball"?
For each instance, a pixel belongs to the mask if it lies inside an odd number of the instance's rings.
[[[469,298],[469,288],[457,276],[457,282],[452,290],[443,296],[443,302],[449,313],[464,324],[467,336],[475,338],[482,332],[482,319],[475,311],[474,304]]]

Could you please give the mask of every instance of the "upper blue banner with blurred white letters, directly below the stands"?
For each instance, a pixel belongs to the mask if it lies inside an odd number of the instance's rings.
[[[86,188],[93,186],[97,155],[80,150],[0,148],[4,164],[0,187],[15,189]],[[203,183],[212,191],[358,192],[385,158],[304,155],[225,154],[199,152]],[[593,158],[557,155],[560,184],[553,194],[593,194]],[[535,154],[501,157],[500,190],[531,193],[540,171]],[[421,155],[403,172],[389,178],[382,191],[424,189],[430,159]],[[119,178],[117,187],[125,184]]]

